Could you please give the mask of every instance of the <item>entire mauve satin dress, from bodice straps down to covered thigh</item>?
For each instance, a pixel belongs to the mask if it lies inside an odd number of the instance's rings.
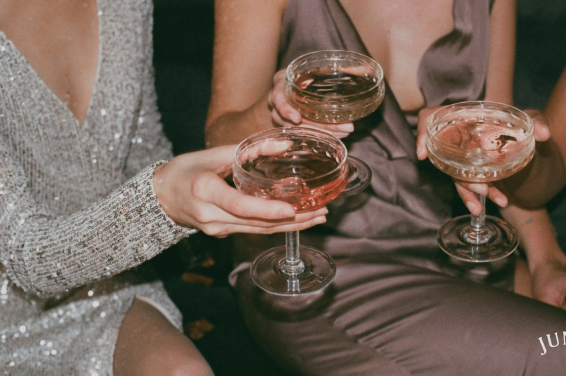
[[[481,99],[490,6],[454,1],[454,30],[420,62],[427,105]],[[289,0],[280,68],[322,49],[368,53],[337,0]],[[249,260],[284,238],[233,238],[242,263],[230,281],[261,348],[289,375],[562,375],[563,351],[541,356],[538,338],[564,330],[565,311],[493,287],[513,287],[511,258],[461,264],[438,248],[436,231],[452,215],[454,186],[417,161],[415,118],[387,90],[381,107],[355,128],[344,141],[370,165],[370,187],[338,198],[325,225],[300,235],[301,243],[334,257],[330,287],[299,297],[261,291]]]

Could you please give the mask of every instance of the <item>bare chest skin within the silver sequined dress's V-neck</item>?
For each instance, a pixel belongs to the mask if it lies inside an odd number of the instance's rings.
[[[0,29],[82,122],[98,66],[96,0],[3,0]]]

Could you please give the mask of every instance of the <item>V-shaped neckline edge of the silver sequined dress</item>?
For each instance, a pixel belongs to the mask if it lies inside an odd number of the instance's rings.
[[[40,83],[40,85],[43,87],[43,89],[49,93],[49,95],[51,96],[51,98],[55,101],[55,103],[58,103],[58,105],[64,109],[64,111],[69,115],[69,117],[71,119],[73,119],[74,123],[76,124],[76,126],[82,127],[85,126],[88,119],[89,119],[89,114],[92,110],[92,102],[94,99],[94,96],[96,94],[96,88],[98,86],[98,80],[99,80],[99,74],[100,74],[100,70],[101,70],[101,61],[102,59],[102,35],[101,35],[101,9],[100,9],[100,4],[99,4],[99,0],[95,0],[96,2],[96,27],[97,27],[97,33],[96,33],[96,37],[97,37],[97,46],[98,46],[98,52],[96,53],[96,70],[94,71],[94,78],[92,80],[92,86],[89,90],[89,99],[88,99],[88,104],[87,104],[87,108],[85,111],[85,118],[84,120],[81,122],[78,117],[76,116],[76,114],[71,110],[71,108],[69,108],[69,105],[67,105],[67,103],[65,103],[65,101],[58,96],[55,91],[49,86],[47,85],[47,83],[45,82],[45,80],[42,78],[42,76],[40,76],[40,74],[37,72],[37,70],[35,69],[35,67],[29,62],[29,60],[26,58],[26,55],[24,55],[24,53],[22,53],[22,51],[18,48],[18,46],[15,44],[15,42],[8,37],[8,35],[6,35],[6,33],[0,29],[0,35],[6,40],[6,42],[8,44],[10,44],[10,46],[12,47],[12,50],[15,51],[18,55],[18,57],[23,60],[26,64],[26,69],[28,69],[31,74],[33,75],[33,77],[35,78],[35,80]]]

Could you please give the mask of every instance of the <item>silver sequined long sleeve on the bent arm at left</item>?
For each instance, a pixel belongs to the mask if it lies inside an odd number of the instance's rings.
[[[51,296],[137,266],[195,232],[161,209],[154,169],[146,167],[83,210],[53,216],[35,202],[0,139],[0,261],[12,281]]]

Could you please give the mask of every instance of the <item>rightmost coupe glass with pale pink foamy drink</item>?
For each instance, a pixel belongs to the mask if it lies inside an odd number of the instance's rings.
[[[510,105],[488,101],[440,108],[427,122],[431,162],[452,178],[492,182],[513,175],[534,154],[533,121]],[[513,253],[517,232],[506,221],[486,216],[486,197],[479,216],[458,216],[438,231],[445,253],[469,262],[490,262]]]

